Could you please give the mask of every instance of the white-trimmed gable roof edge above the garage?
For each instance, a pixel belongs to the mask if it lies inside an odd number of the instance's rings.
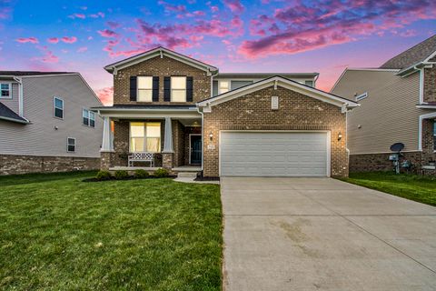
[[[331,93],[324,92],[322,90],[313,88],[309,85],[302,85],[298,82],[292,81],[280,75],[274,75],[270,78],[255,82],[250,85],[244,85],[240,88],[234,89],[232,91],[213,96],[211,98],[205,99],[202,102],[197,103],[198,107],[210,107],[213,105],[219,105],[221,103],[230,101],[234,98],[251,94],[263,88],[270,86],[282,86],[286,89],[301,93],[303,95],[308,95],[312,98],[321,100],[322,102],[327,102],[332,105],[345,106],[347,108],[359,106],[357,102],[349,99],[342,98],[338,95],[332,95]]]

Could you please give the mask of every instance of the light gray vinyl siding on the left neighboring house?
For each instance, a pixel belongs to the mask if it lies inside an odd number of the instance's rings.
[[[82,109],[102,105],[79,75],[23,77],[24,115],[28,125],[0,122],[0,154],[30,156],[99,157],[103,120],[82,125]],[[53,116],[53,97],[64,100],[64,120]],[[54,129],[55,126],[58,129]],[[67,153],[66,138],[76,139],[76,151]]]

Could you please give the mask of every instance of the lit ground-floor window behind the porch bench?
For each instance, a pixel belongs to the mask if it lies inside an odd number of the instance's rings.
[[[158,122],[130,123],[130,152],[161,152],[161,124]]]

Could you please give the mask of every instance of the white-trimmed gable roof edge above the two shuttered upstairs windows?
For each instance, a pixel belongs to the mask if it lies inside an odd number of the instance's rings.
[[[146,51],[146,52],[139,54],[139,55],[131,56],[129,58],[126,58],[126,59],[119,61],[119,62],[116,62],[114,64],[106,65],[106,66],[104,66],[104,69],[111,74],[116,73],[116,70],[120,70],[120,69],[123,69],[125,67],[144,62],[145,60],[151,59],[151,58],[156,57],[156,56],[171,57],[177,61],[180,61],[180,62],[187,64],[187,65],[192,65],[192,66],[199,68],[199,69],[202,69],[203,71],[206,71],[208,73],[213,73],[213,72],[218,71],[218,68],[213,66],[213,65],[207,65],[203,62],[200,62],[196,59],[193,59],[192,57],[176,53],[176,52],[169,50],[167,48],[164,48],[162,46],[156,47],[152,50]]]

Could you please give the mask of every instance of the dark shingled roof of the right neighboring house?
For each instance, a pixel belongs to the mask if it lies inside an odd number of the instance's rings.
[[[414,45],[400,55],[392,57],[380,66],[383,69],[407,69],[427,61],[436,52],[436,35],[433,35],[418,45]]]

